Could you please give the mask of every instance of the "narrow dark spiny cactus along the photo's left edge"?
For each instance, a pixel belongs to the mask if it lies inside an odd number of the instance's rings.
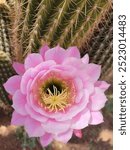
[[[15,74],[11,65],[8,11],[7,4],[0,3],[0,100],[6,104],[11,103],[11,101],[4,90],[3,83]]]

